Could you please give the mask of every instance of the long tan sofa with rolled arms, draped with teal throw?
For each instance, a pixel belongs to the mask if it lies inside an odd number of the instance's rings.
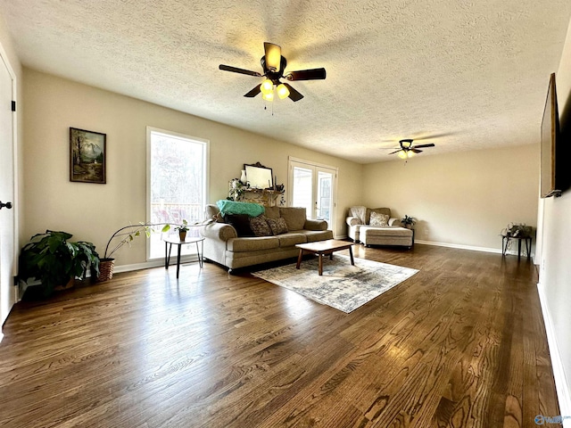
[[[245,268],[260,263],[291,259],[297,257],[297,243],[313,243],[333,239],[333,231],[327,230],[327,221],[308,220],[305,208],[269,207],[265,209],[266,218],[284,218],[287,231],[272,236],[238,236],[236,228],[219,216],[216,205],[206,206],[206,218],[217,221],[204,226],[205,259],[215,261],[228,268]]]

